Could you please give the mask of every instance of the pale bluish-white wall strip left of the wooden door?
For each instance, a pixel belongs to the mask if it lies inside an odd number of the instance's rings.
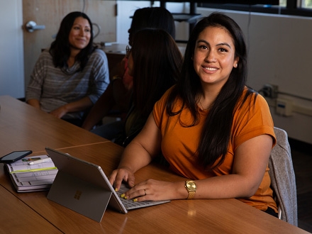
[[[0,95],[25,96],[22,0],[0,0]]]

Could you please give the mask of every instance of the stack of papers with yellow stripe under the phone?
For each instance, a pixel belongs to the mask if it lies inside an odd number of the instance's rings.
[[[57,174],[57,167],[48,155],[24,157],[6,167],[18,192],[48,190]]]

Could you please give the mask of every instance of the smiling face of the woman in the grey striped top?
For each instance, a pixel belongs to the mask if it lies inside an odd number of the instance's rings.
[[[69,32],[69,45],[82,50],[87,47],[91,38],[91,26],[87,18],[77,17]]]

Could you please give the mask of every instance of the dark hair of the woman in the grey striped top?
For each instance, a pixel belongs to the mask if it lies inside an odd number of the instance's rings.
[[[67,14],[65,18],[63,18],[60,29],[57,32],[57,36],[50,46],[49,52],[50,55],[52,55],[53,64],[55,67],[67,67],[67,60],[70,56],[69,33],[70,30],[72,30],[75,19],[78,17],[87,19],[87,21],[89,21],[91,30],[89,44],[76,56],[76,61],[80,62],[80,70],[84,69],[85,65],[87,65],[89,55],[95,50],[93,45],[93,28],[90,18],[83,12],[71,12]]]

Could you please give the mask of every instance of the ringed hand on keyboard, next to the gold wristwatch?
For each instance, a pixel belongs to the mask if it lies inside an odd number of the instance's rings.
[[[182,194],[179,194],[181,189],[184,189],[184,192],[182,190]],[[147,179],[126,191],[122,197],[124,199],[133,199],[134,201],[162,201],[185,199],[187,197],[186,194],[187,191],[184,188],[184,182],[164,182]]]

